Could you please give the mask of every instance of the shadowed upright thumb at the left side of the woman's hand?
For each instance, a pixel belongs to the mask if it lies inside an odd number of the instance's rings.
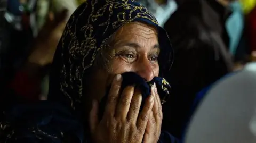
[[[94,132],[94,130],[97,128],[99,124],[98,112],[99,112],[99,104],[97,100],[93,100],[92,109],[89,115],[89,127],[91,132]]]

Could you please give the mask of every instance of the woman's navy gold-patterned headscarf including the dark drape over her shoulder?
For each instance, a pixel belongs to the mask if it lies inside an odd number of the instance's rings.
[[[82,96],[86,96],[86,75],[97,53],[106,48],[107,39],[124,24],[135,21],[158,29],[158,62],[160,73],[164,74],[171,66],[172,48],[165,30],[145,7],[134,0],[87,0],[71,15],[58,44],[50,74],[49,99],[6,110],[0,122],[0,142],[87,142],[90,137],[85,135],[78,116]],[[155,79],[159,94],[163,91],[169,96],[169,83],[163,78]],[[142,85],[150,88],[147,83]],[[175,141],[167,132],[161,133],[161,138],[160,142]]]

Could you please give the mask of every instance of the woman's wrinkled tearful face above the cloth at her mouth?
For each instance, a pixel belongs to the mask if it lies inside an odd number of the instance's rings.
[[[158,76],[157,57],[160,49],[157,37],[154,27],[139,22],[128,23],[120,28],[111,41],[111,49],[108,51],[112,57],[111,71],[96,68],[92,73],[89,81],[93,82],[86,84],[87,102],[91,102],[91,99],[100,100],[116,74],[135,72],[146,81]]]

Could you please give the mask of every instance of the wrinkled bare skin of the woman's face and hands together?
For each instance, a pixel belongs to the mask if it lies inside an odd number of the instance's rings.
[[[120,28],[112,42],[111,71],[94,68],[86,101],[93,103],[90,111],[90,130],[94,142],[157,142],[161,132],[162,106],[157,89],[146,100],[139,113],[141,93],[132,86],[120,92],[124,72],[135,72],[146,81],[158,76],[157,56],[160,49],[157,32],[147,24],[132,22]],[[114,78],[118,77],[118,78]],[[113,80],[114,79],[114,80]],[[119,80],[117,80],[119,79]],[[111,85],[103,119],[98,121],[98,102]],[[103,90],[99,90],[103,89]],[[87,107],[90,109],[90,107]]]

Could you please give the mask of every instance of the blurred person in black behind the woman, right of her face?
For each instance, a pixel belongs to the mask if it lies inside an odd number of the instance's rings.
[[[182,132],[197,92],[234,69],[225,27],[230,2],[184,1],[164,24],[174,48],[173,66],[166,78],[175,95],[170,100],[176,102],[163,106],[163,111],[172,113],[163,121],[170,132],[175,128]]]

